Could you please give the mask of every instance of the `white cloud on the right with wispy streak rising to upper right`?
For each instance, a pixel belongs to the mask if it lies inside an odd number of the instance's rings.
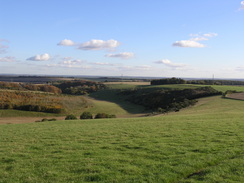
[[[188,48],[204,48],[204,44],[199,43],[199,41],[207,41],[211,37],[217,36],[217,33],[207,33],[207,34],[190,34],[191,38],[189,40],[176,41],[172,46],[176,47],[188,47]]]

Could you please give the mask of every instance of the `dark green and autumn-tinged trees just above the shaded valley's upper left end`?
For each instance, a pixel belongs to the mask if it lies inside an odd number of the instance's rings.
[[[70,95],[85,95],[106,88],[102,83],[85,80],[64,81],[55,86],[60,88],[62,93]]]

